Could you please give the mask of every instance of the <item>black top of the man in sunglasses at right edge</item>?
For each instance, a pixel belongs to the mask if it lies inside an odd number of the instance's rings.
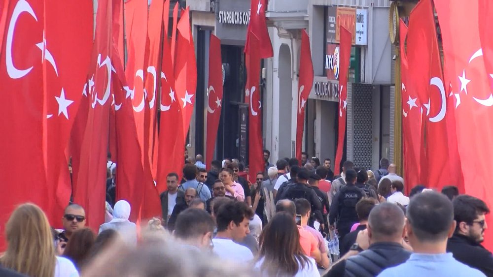
[[[447,243],[447,252],[452,252],[459,262],[493,277],[492,252],[468,237],[454,234]]]

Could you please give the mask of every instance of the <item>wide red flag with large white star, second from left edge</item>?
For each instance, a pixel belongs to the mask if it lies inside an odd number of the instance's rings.
[[[59,226],[71,194],[69,156],[70,131],[75,121],[87,78],[93,47],[93,5],[90,1],[45,0],[44,37],[41,49],[46,101],[46,174],[56,185],[56,204],[46,211]]]

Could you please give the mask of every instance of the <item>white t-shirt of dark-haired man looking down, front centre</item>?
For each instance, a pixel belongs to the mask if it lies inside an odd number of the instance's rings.
[[[214,248],[212,251],[221,259],[244,263],[253,260],[250,249],[241,246],[229,239],[212,239]]]

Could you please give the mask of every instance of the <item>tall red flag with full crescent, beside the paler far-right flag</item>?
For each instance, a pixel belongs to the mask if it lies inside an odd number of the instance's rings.
[[[413,88],[420,93],[423,104],[425,155],[428,178],[422,179],[430,187],[458,184],[451,172],[447,134],[447,101],[443,82],[442,64],[431,0],[421,0],[409,16],[408,59]]]

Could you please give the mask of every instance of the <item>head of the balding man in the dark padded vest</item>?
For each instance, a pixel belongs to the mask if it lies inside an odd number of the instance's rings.
[[[376,205],[368,216],[372,243],[399,242],[404,231],[404,212],[392,203]]]

